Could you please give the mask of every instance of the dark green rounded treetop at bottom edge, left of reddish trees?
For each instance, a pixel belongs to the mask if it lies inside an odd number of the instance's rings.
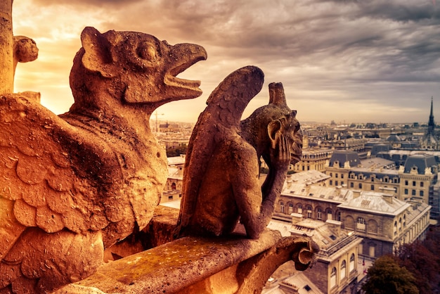
[[[362,286],[367,294],[418,294],[413,274],[399,264],[391,255],[375,260],[367,271],[367,280]]]

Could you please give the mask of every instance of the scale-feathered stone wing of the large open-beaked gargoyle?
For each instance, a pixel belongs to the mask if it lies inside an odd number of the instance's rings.
[[[39,103],[0,97],[0,260],[27,227],[82,233],[109,223],[90,199],[96,188],[77,176],[60,144],[57,134],[68,129]]]

